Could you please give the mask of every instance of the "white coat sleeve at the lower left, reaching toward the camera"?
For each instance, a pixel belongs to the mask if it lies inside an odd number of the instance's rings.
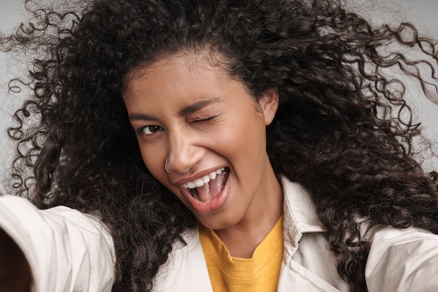
[[[0,196],[0,228],[26,256],[32,291],[111,291],[113,240],[96,217],[68,207],[38,210],[24,198]]]

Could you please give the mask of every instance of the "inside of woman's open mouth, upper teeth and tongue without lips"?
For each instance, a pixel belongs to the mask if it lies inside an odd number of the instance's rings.
[[[195,200],[208,203],[219,196],[225,187],[228,174],[229,168],[220,168],[197,180],[182,184],[181,187],[187,189]]]

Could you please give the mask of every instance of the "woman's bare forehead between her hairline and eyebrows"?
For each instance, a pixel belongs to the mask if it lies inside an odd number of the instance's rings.
[[[238,92],[250,95],[242,82],[229,76],[218,57],[179,54],[130,73],[123,99],[129,112],[163,112],[202,100],[236,98]]]

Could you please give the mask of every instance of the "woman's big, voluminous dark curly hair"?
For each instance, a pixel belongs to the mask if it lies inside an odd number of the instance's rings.
[[[436,44],[411,24],[373,27],[336,0],[90,0],[72,11],[36,10],[41,22],[3,38],[3,48],[44,52],[29,80],[10,85],[33,92],[9,129],[13,187],[38,207],[67,205],[110,226],[113,291],[149,291],[197,224],[143,165],[121,97],[129,73],[180,52],[218,52],[255,98],[278,90],[269,158],[311,191],[351,291],[367,291],[370,238],[358,217],[438,233],[437,174],[416,159],[421,128],[404,80],[387,74],[397,68],[436,101]]]

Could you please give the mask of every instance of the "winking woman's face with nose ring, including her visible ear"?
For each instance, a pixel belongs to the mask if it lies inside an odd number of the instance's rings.
[[[123,99],[146,167],[202,224],[229,228],[278,204],[265,135],[275,90],[257,102],[220,66],[185,54],[134,72]]]

